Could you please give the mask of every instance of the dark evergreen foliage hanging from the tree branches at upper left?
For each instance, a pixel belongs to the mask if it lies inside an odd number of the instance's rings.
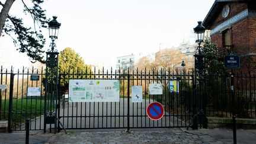
[[[43,60],[44,54],[44,44],[46,40],[41,33],[41,28],[47,27],[49,20],[46,18],[45,9],[42,9],[40,5],[44,2],[43,0],[31,0],[25,4],[24,1],[23,12],[31,16],[34,22],[34,28],[25,27],[22,18],[17,18],[13,15],[8,14],[5,19],[5,25],[2,30],[2,33],[5,33],[11,36],[14,45],[18,47],[18,51],[21,53],[27,53],[27,56],[30,57],[31,62],[39,61],[45,63]],[[2,4],[2,3],[1,3]],[[31,5],[31,7],[28,7]],[[4,6],[3,6],[4,7]],[[2,16],[1,16],[2,17]],[[37,28],[39,30],[37,30]],[[2,34],[4,36],[4,34]]]

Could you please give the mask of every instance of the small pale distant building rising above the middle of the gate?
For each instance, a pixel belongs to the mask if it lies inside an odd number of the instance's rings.
[[[116,69],[117,70],[124,70],[127,71],[127,69],[133,69],[135,63],[135,55],[127,55],[127,56],[120,56],[117,57],[117,64]]]

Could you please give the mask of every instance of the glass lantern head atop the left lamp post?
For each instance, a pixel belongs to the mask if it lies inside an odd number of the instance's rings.
[[[57,36],[59,34],[59,28],[60,28],[60,23],[57,22],[57,17],[53,16],[53,20],[48,23],[49,25],[49,37],[52,39],[52,43],[50,44],[52,52],[54,52],[54,48],[56,47],[54,41],[57,39]]]

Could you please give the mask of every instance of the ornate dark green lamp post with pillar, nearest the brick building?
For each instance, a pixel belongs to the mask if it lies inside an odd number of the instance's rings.
[[[196,75],[196,84],[194,84],[196,97],[194,98],[194,114],[196,114],[196,120],[194,119],[194,126],[193,129],[197,129],[197,119],[199,119],[200,126],[203,124],[203,127],[207,127],[206,122],[206,99],[205,99],[205,92],[204,92],[204,55],[202,53],[203,47],[201,43],[204,39],[204,31],[206,28],[201,24],[202,22],[199,21],[198,25],[194,28],[194,33],[196,33],[196,43],[199,44],[197,47],[198,53],[194,55],[195,57],[195,75]]]

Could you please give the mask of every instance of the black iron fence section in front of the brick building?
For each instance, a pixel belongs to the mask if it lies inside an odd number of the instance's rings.
[[[235,73],[234,78],[234,108],[237,117],[256,117],[256,87],[255,73]],[[231,76],[206,76],[207,116],[232,117],[232,85]]]

